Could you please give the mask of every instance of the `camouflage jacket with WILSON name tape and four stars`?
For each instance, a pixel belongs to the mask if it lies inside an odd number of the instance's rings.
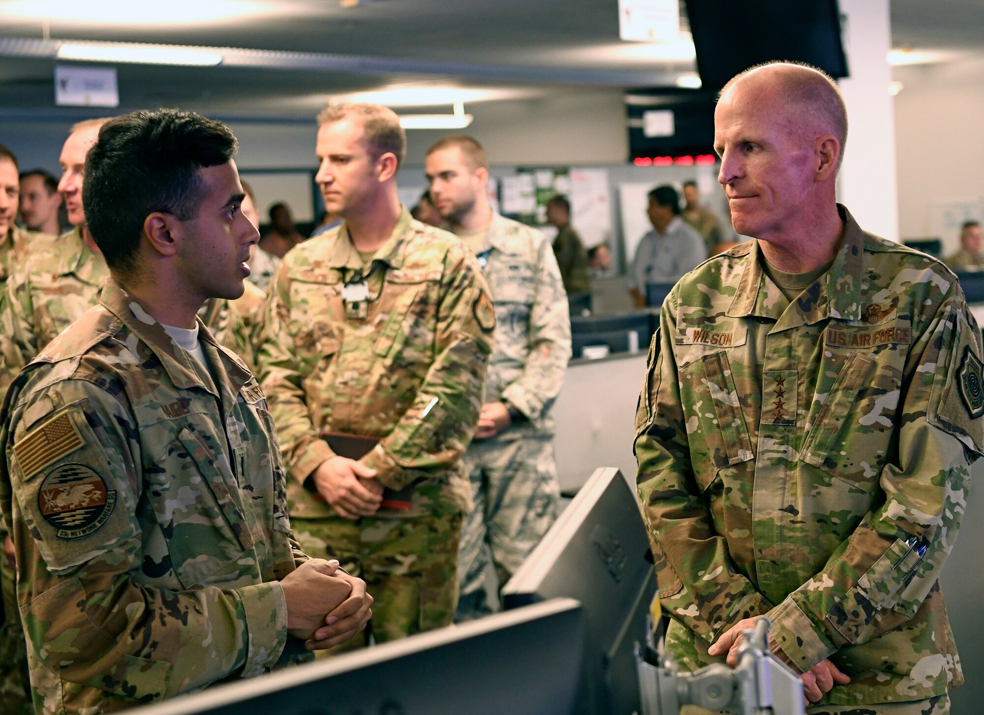
[[[938,577],[984,442],[980,332],[939,261],[846,222],[788,304],[755,241],[663,304],[636,420],[639,496],[667,648],[686,669],[742,618],[825,702],[917,700],[962,682]]]

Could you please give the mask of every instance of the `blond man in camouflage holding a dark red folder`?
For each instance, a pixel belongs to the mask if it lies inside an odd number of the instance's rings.
[[[461,455],[478,419],[495,316],[475,257],[400,207],[405,136],[396,115],[341,105],[320,123],[318,182],[344,222],[284,257],[261,328],[261,383],[298,541],[312,556],[328,549],[366,580],[373,635],[386,641],[452,622],[461,516],[471,506]],[[371,126],[384,131],[374,136]],[[375,196],[356,204],[361,192]],[[360,253],[366,220],[380,216],[393,228]],[[346,461],[325,432],[379,442]],[[333,496],[338,464],[373,499]]]

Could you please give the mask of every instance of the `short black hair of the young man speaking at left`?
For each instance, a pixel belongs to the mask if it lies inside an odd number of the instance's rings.
[[[102,125],[86,156],[86,224],[109,268],[133,273],[144,221],[182,221],[201,206],[199,171],[230,161],[236,138],[221,122],[178,109],[123,114]]]

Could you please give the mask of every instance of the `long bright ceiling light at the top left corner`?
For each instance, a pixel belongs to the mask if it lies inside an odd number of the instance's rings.
[[[87,25],[199,25],[255,20],[283,12],[283,3],[271,0],[0,0],[4,18]]]

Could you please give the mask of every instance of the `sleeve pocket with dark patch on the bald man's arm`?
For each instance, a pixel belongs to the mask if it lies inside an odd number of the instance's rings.
[[[937,369],[926,417],[980,456],[984,455],[984,364],[978,334],[963,313],[955,314],[949,361],[946,369]]]

